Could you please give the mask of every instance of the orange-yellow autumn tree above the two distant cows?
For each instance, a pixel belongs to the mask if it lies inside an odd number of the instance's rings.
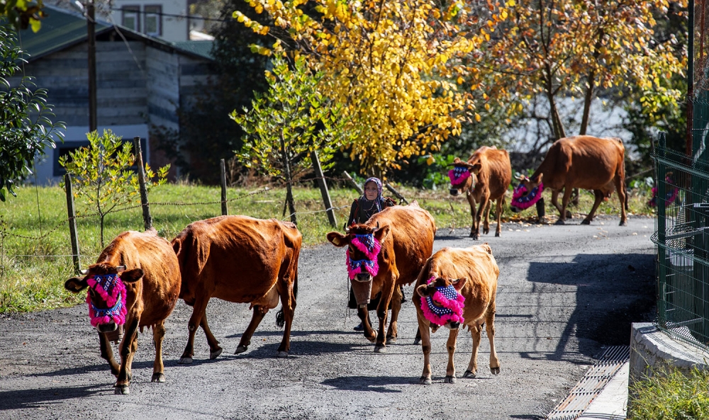
[[[666,12],[668,1],[508,0],[506,6],[506,22],[474,53],[489,67],[471,73],[471,83],[515,111],[525,100],[545,97],[554,138],[566,137],[559,96],[584,98],[580,134],[586,134],[591,101],[601,89],[640,89],[646,107],[681,98],[670,83],[686,67],[674,54],[681,46],[674,37],[653,36],[653,13]]]

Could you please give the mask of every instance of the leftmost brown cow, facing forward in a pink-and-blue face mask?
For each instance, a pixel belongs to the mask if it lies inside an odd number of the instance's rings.
[[[120,279],[120,280],[119,280]],[[138,349],[138,328],[152,327],[155,361],[152,382],[164,382],[162,339],[165,319],[179,295],[180,274],[177,257],[166,239],[155,229],[123,232],[106,246],[83,278],[69,278],[65,288],[79,293],[89,286],[91,324],[99,331],[101,357],[116,375],[116,394],[130,393],[130,370]],[[125,289],[124,289],[125,288]],[[114,303],[115,302],[115,303]],[[123,309],[125,308],[125,309]],[[125,320],[125,335],[118,347],[121,365],[113,360],[106,333],[115,331]]]

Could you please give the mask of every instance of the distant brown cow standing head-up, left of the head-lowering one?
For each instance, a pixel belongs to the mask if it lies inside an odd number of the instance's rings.
[[[453,166],[448,173],[451,182],[450,194],[459,195],[463,191],[467,193],[470,214],[473,217],[470,237],[473,239],[480,237],[480,220],[483,212],[485,213],[483,233],[490,232],[490,208],[495,200],[497,200],[495,236],[499,237],[502,232],[501,219],[505,193],[512,180],[510,155],[506,150],[483,146],[477,149],[467,162],[455,158]],[[480,203],[477,212],[475,203]]]

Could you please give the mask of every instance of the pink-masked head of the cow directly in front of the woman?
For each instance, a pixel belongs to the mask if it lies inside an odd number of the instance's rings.
[[[347,274],[350,280],[368,282],[379,273],[379,251],[389,234],[389,226],[352,225],[340,232],[328,233],[328,241],[337,247],[347,246]]]

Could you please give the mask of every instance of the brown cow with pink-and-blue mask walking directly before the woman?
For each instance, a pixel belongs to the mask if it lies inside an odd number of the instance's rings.
[[[381,210],[366,223],[347,228],[347,234],[328,233],[328,241],[333,245],[348,247],[347,272],[350,280],[360,284],[371,282],[370,298],[381,292],[376,307],[378,332],[369,324],[367,302],[358,302],[357,308],[364,336],[369,341],[376,341],[376,353],[386,352],[384,327],[390,301],[391,322],[386,341],[388,344],[396,342],[396,323],[401,310],[401,292],[397,286],[408,285],[416,280],[421,267],[433,251],[435,233],[433,217],[415,201],[410,205],[395,205]]]

